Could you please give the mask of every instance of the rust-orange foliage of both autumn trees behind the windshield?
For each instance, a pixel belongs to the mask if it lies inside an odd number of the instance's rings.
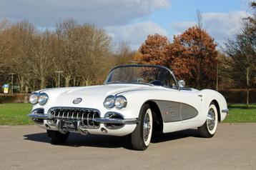
[[[147,36],[136,60],[142,64],[159,64],[171,67],[177,79],[202,89],[213,87],[216,76],[217,51],[214,39],[197,26],[174,36],[170,43],[166,36]]]

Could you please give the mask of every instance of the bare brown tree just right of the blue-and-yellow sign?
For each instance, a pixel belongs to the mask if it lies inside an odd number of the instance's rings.
[[[31,79],[34,79],[29,59],[33,57],[31,48],[34,46],[36,29],[28,21],[21,21],[12,25],[9,31],[11,32],[11,52],[8,54],[11,69],[9,71],[18,76],[21,91],[28,92]]]

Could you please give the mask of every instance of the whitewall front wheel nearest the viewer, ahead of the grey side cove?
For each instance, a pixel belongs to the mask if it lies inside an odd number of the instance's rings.
[[[131,134],[132,148],[143,151],[150,144],[153,129],[152,111],[149,104],[144,104],[139,112],[139,123]]]

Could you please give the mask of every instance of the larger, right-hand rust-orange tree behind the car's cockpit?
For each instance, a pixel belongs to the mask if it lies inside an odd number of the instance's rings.
[[[172,69],[178,79],[185,79],[198,89],[215,87],[217,51],[214,39],[200,26],[192,26],[174,36]]]

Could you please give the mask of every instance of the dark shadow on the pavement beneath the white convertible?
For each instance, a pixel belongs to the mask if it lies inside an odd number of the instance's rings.
[[[176,139],[183,139],[187,137],[199,137],[196,129],[187,129],[184,131],[177,131],[168,134],[153,134],[152,143],[161,143],[163,141],[172,141]],[[44,143],[50,143],[46,133],[39,134],[26,134],[24,140],[38,141]],[[61,146],[91,146],[91,147],[102,147],[102,148],[125,148],[132,149],[129,142],[129,136],[106,136],[106,135],[86,135],[81,134],[69,134],[69,138],[65,144]]]

